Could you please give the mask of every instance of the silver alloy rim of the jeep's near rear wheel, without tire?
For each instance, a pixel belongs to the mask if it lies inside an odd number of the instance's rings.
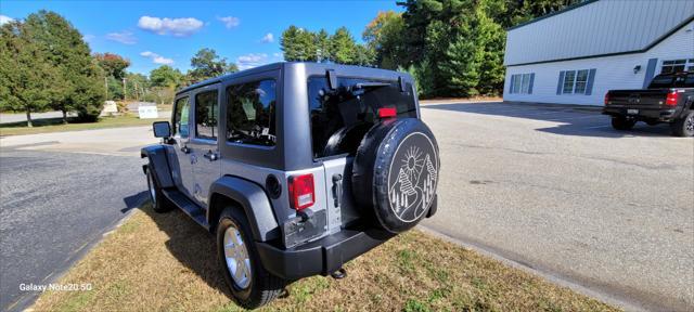
[[[224,260],[236,286],[245,289],[250,285],[250,259],[239,229],[229,226],[224,231]]]

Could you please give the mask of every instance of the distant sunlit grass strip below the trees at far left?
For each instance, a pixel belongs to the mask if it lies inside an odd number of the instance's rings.
[[[0,135],[20,135],[20,134],[35,134],[47,132],[62,132],[62,131],[75,131],[75,130],[92,130],[103,128],[117,128],[129,126],[146,126],[157,120],[166,119],[140,119],[136,115],[127,114],[116,117],[101,117],[97,122],[76,122],[76,119],[67,118],[72,123],[63,123],[62,118],[46,118],[34,120],[34,127],[26,127],[26,121],[0,123]]]

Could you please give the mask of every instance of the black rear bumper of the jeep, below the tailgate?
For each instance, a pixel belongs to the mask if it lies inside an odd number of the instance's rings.
[[[281,249],[269,243],[256,243],[260,261],[273,275],[294,281],[311,275],[327,275],[349,260],[390,239],[383,230],[342,230],[301,246]]]

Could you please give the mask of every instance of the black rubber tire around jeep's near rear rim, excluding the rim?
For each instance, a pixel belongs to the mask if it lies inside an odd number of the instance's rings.
[[[250,280],[245,287],[241,287],[234,282],[231,271],[227,265],[224,233],[227,229],[231,226],[236,229],[241,234],[249,258]],[[262,268],[248,221],[246,221],[241,210],[235,207],[227,207],[219,218],[217,225],[217,258],[221,270],[224,272],[224,281],[227,281],[234,301],[245,309],[256,309],[269,303],[282,294],[286,285],[284,280],[270,274],[270,272]]]

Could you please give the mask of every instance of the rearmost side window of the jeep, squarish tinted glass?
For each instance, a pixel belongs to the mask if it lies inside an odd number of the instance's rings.
[[[277,81],[267,79],[227,88],[227,141],[274,146]]]

